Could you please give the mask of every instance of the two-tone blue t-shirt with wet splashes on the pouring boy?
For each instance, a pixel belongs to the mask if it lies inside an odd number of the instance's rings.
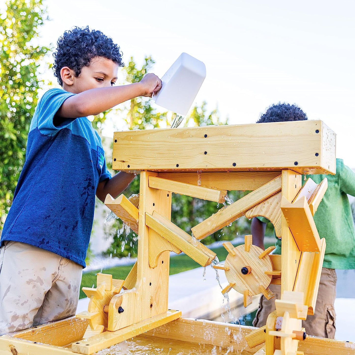
[[[85,267],[100,181],[111,178],[101,139],[86,117],[53,118],[73,93],[51,89],[28,133],[26,162],[1,235],[54,252]]]

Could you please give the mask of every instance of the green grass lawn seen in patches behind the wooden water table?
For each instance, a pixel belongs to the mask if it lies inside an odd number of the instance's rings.
[[[222,244],[222,242],[221,242],[221,244]],[[271,245],[273,245],[273,244],[266,244],[265,248],[267,248]],[[217,248],[212,248],[211,250],[217,254],[219,261],[225,260],[225,258],[228,255],[228,252],[224,249],[223,246],[220,246]],[[169,274],[170,275],[178,274],[179,272],[195,269],[200,266],[201,266],[200,264],[193,261],[186,254],[172,256],[172,257],[170,257]],[[107,269],[103,270],[102,272],[104,274],[112,274],[112,277],[114,279],[124,280],[127,277],[128,273],[131,271],[131,268],[132,268],[132,265],[115,266],[115,267],[107,268]],[[100,272],[100,270],[83,273],[83,277],[81,280],[81,286],[80,286],[80,297],[79,298],[86,297],[86,295],[81,290],[82,287],[96,287],[96,274],[98,272]]]

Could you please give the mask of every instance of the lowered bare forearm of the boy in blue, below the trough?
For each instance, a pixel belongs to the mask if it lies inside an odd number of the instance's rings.
[[[102,202],[105,201],[107,194],[109,193],[113,198],[119,196],[135,178],[136,174],[126,173],[125,171],[119,171],[111,179],[106,179],[99,182],[96,189],[96,196]]]

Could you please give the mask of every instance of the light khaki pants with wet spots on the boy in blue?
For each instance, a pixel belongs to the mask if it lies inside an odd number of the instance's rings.
[[[6,241],[0,249],[0,335],[75,315],[82,266]]]

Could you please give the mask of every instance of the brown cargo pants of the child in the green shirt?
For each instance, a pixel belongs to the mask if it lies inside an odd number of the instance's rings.
[[[314,316],[307,316],[307,319],[302,321],[302,327],[306,329],[307,334],[334,339],[334,301],[336,284],[337,274],[335,273],[335,270],[323,267],[315,314]],[[281,297],[280,285],[270,285],[269,288],[273,291],[275,297],[267,300],[264,296],[261,296],[259,308],[253,321],[255,327],[262,327],[266,324],[267,316],[275,310],[275,299],[280,299]]]

